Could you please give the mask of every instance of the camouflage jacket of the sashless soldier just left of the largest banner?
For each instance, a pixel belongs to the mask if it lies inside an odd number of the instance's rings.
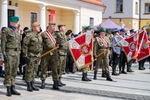
[[[58,49],[58,54],[60,56],[63,56],[63,55],[67,55],[67,49],[68,49],[68,42],[67,42],[67,37],[65,34],[61,33],[61,32],[58,32],[56,33],[56,44],[57,45],[62,45],[63,47],[59,48]]]

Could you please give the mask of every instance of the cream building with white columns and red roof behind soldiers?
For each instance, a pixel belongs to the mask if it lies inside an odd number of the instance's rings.
[[[104,8],[99,0],[0,0],[0,28],[7,27],[9,17],[16,15],[20,18],[21,29],[30,28],[37,21],[45,30],[54,16],[57,25],[64,23],[67,29],[78,33],[83,26],[101,23]]]

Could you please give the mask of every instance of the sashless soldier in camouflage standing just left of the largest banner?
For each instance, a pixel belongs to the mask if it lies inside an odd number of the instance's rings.
[[[67,37],[65,35],[65,29],[66,29],[65,26],[66,25],[64,25],[64,24],[58,25],[59,32],[56,33],[56,37],[57,37],[56,42],[57,42],[57,45],[59,46],[58,55],[60,58],[60,64],[58,67],[58,74],[59,74],[58,85],[59,86],[65,86],[66,85],[66,84],[61,82],[62,73],[66,69],[66,56],[67,56],[67,49],[68,49]]]

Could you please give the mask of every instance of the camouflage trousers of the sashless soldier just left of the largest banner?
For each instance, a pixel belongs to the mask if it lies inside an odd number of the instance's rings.
[[[59,58],[60,58],[60,64],[59,64],[59,67],[58,67],[58,74],[59,74],[59,78],[61,78],[62,73],[66,69],[66,56],[59,56]]]

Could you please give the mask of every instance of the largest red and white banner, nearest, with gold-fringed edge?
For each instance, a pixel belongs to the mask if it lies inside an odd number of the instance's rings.
[[[89,31],[69,40],[69,49],[78,69],[93,63],[93,34]]]

